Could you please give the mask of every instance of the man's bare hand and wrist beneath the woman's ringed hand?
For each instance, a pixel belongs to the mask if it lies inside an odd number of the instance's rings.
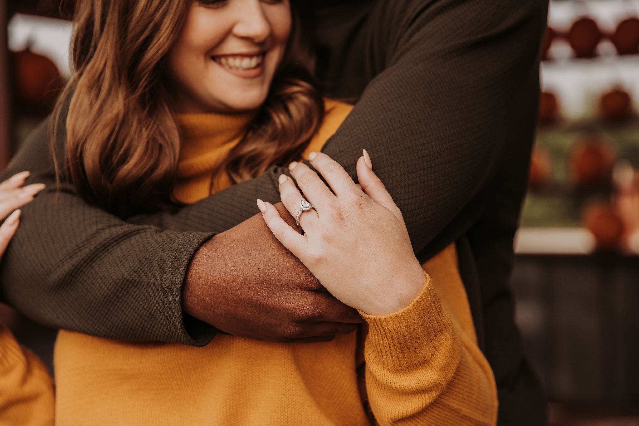
[[[280,215],[295,227],[281,203]],[[266,227],[262,215],[222,232],[194,256],[184,310],[218,330],[273,342],[323,342],[362,323]]]

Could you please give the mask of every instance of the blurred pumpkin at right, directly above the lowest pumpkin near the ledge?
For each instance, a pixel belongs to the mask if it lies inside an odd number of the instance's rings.
[[[617,151],[603,137],[585,136],[574,142],[568,154],[568,170],[579,188],[592,188],[610,181]]]

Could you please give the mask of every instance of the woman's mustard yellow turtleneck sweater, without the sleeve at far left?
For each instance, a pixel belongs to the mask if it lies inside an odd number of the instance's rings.
[[[318,151],[351,107],[327,101],[327,116],[304,157]],[[179,117],[181,181],[195,202],[212,168],[250,116]],[[229,185],[215,179],[215,189]],[[424,264],[424,289],[409,307],[364,318],[369,333],[332,342],[277,344],[217,335],[206,347],[130,344],[60,331],[56,424],[381,425],[495,424],[497,389],[477,347],[454,245]],[[366,391],[357,368],[366,363]],[[364,395],[367,393],[367,396]]]

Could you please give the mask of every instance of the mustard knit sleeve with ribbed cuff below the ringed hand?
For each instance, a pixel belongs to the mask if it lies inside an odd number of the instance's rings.
[[[472,333],[442,308],[431,277],[408,307],[362,313],[366,388],[380,425],[495,425],[497,385]]]

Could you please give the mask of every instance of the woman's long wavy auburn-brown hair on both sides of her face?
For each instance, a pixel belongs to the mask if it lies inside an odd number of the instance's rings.
[[[54,158],[79,194],[120,217],[176,208],[180,131],[167,55],[192,0],[75,2],[75,73],[59,97],[50,132],[66,115],[65,159]],[[299,158],[323,119],[314,84],[303,1],[270,93],[241,141],[220,161],[233,183]],[[51,138],[54,140],[54,138]],[[52,149],[54,153],[56,149]]]

